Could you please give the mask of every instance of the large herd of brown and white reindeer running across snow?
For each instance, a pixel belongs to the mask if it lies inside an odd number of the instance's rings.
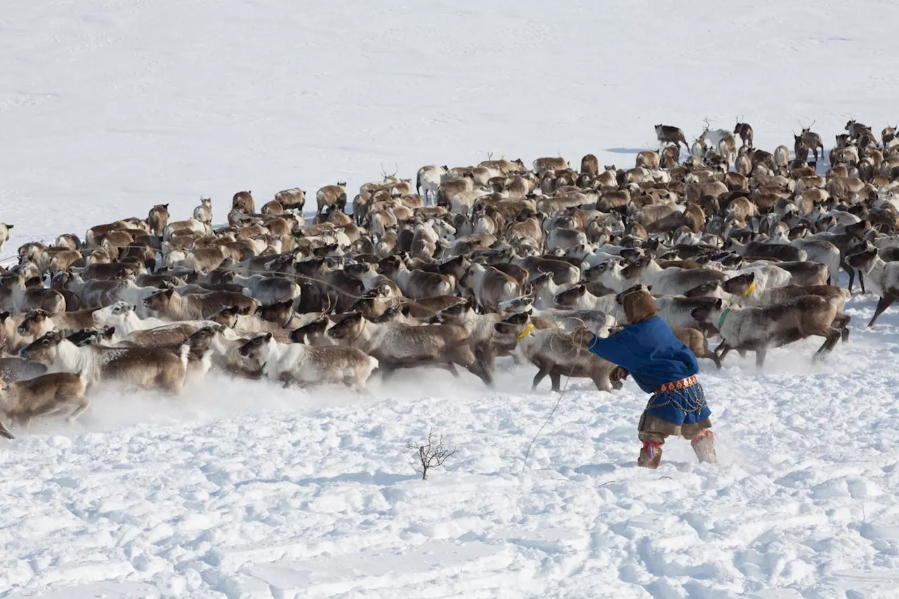
[[[375,371],[461,368],[491,386],[501,356],[536,368],[535,388],[572,376],[610,391],[615,365],[570,333],[609,335],[636,286],[718,368],[731,350],[761,367],[808,336],[830,352],[849,336],[856,277],[879,297],[868,326],[899,298],[895,127],[877,139],[849,121],[823,174],[810,127],[792,158],[755,148],[744,122],[707,123],[690,145],[655,131],[662,147],[632,168],[592,155],[577,170],[562,157],[428,165],[414,183],[364,183],[351,213],[347,184],[325,185],[311,222],[299,188],[259,210],[244,191],[227,226],[202,198],[190,219],[161,204],[84,240],[24,244],[0,272],[0,420],[74,421],[95,385],[177,395],[210,370],[365,393]]]

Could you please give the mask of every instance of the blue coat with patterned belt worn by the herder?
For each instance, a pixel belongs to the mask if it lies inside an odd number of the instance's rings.
[[[662,317],[647,318],[622,329],[616,335],[594,336],[587,346],[592,353],[618,364],[646,393],[664,383],[686,379],[699,372],[696,355],[674,336]],[[654,395],[647,414],[673,425],[695,425],[711,415],[702,387],[678,389]]]

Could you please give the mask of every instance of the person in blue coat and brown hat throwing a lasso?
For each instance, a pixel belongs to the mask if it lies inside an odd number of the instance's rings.
[[[658,468],[662,445],[669,435],[689,439],[700,461],[715,463],[711,410],[696,380],[696,355],[674,336],[647,291],[627,293],[621,303],[629,326],[605,338],[581,328],[574,332],[572,341],[618,364],[619,376],[629,373],[640,389],[653,394],[637,426],[643,442],[637,465]]]

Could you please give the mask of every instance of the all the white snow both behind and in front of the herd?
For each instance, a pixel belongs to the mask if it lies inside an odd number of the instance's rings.
[[[864,25],[859,27],[859,15]],[[896,118],[899,6],[172,0],[14,3],[0,20],[4,256],[200,194],[350,187],[493,152],[631,163],[663,121],[756,144]],[[733,78],[729,78],[733,77]],[[396,166],[394,166],[396,165]],[[703,361],[720,462],[636,469],[645,395],[503,362],[496,390],[412,371],[372,396],[210,377],[112,390],[0,451],[0,596],[892,597],[899,317]],[[417,479],[406,443],[458,448]]]

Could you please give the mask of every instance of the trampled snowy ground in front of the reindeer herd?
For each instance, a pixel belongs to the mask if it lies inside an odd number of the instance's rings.
[[[869,317],[870,299],[850,314]],[[899,317],[762,374],[703,361],[717,466],[666,444],[635,467],[633,383],[556,401],[421,371],[374,397],[216,380],[98,398],[82,430],[0,453],[4,597],[892,597],[899,583]],[[422,380],[427,380],[423,389]],[[127,401],[127,404],[125,403]],[[417,479],[429,426],[458,448]]]

